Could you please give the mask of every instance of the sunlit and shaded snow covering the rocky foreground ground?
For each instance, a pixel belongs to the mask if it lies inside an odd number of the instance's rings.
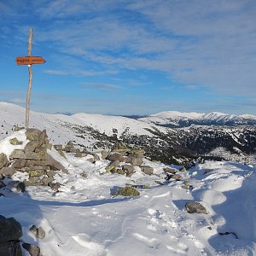
[[[11,137],[27,143],[24,131]],[[9,138],[0,143],[6,154]],[[108,160],[91,164],[73,154],[65,160],[54,149],[49,154],[69,171],[55,174],[60,192],[34,186],[24,194],[4,189],[0,197],[0,214],[17,219],[22,240],[37,244],[44,256],[256,255],[256,166],[207,161],[178,172],[182,180],[166,182],[159,162],[144,160],[154,175],[137,167],[125,177],[105,173]],[[21,172],[11,177],[23,178]],[[184,181],[193,189],[183,189]],[[127,183],[149,189],[138,189],[137,197],[112,195]],[[189,201],[201,202],[208,213],[190,214],[184,208]],[[44,228],[44,239],[29,231],[33,224]]]

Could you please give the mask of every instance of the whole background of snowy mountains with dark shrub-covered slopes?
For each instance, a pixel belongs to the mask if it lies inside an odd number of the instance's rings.
[[[46,129],[50,140],[67,143],[72,140],[77,146],[100,151],[111,148],[118,140],[143,148],[152,160],[181,164],[199,157],[204,159],[236,160],[247,163],[256,159],[256,130],[254,125],[207,126],[192,125],[177,129],[170,126],[171,113],[130,119],[92,113],[76,113],[71,116],[31,112],[30,126]],[[174,120],[173,117],[176,119]],[[227,122],[237,116],[222,113],[172,112],[172,122],[191,120],[220,120]],[[253,116],[241,118],[253,120]],[[254,117],[255,118],[255,117]],[[24,126],[25,109],[14,104],[0,102],[0,139],[13,130],[14,125]],[[166,123],[164,123],[164,120]],[[177,125],[176,125],[177,126]]]

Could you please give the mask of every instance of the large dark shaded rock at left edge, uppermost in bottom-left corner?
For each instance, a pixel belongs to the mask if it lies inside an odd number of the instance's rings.
[[[19,240],[23,236],[22,228],[15,218],[0,218],[0,241]]]

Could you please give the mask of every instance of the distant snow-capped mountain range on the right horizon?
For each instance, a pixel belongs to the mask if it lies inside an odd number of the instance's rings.
[[[256,116],[252,114],[212,113],[182,113],[166,111],[151,114],[140,120],[148,124],[166,127],[184,127],[190,125],[256,125]]]

